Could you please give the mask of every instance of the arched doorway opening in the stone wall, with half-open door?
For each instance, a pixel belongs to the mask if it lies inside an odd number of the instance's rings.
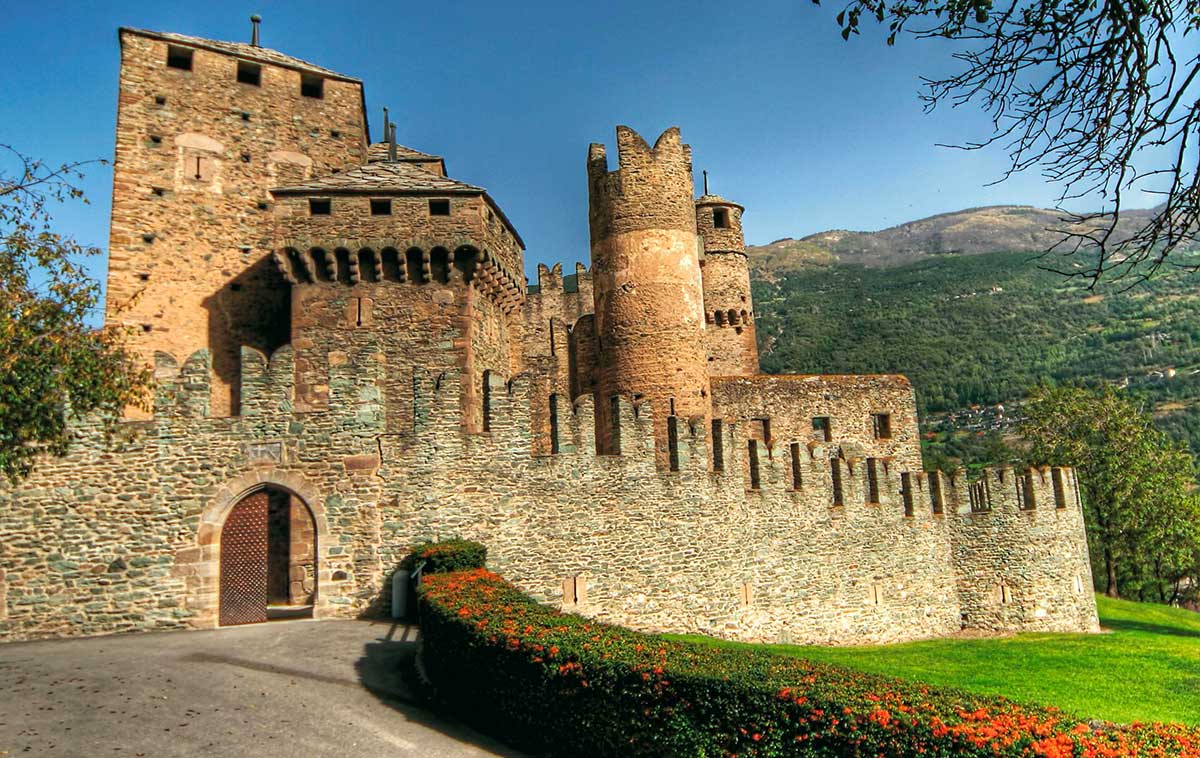
[[[221,626],[312,618],[317,529],[304,500],[265,487],[244,497],[221,527]]]

